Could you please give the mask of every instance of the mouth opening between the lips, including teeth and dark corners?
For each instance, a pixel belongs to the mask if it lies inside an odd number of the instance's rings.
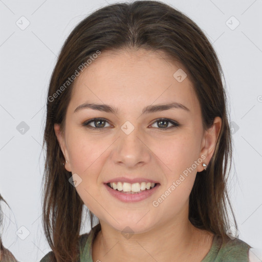
[[[125,194],[139,194],[142,192],[149,191],[159,185],[159,183],[152,183],[152,182],[137,182],[137,183],[127,183],[127,182],[110,182],[106,183],[106,186],[110,187],[111,189],[125,193]]]

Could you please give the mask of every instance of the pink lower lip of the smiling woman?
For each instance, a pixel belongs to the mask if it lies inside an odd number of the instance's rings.
[[[122,202],[138,202],[138,201],[142,201],[144,199],[147,199],[160,186],[160,184],[157,184],[152,189],[144,190],[141,193],[132,194],[132,193],[121,193],[120,191],[112,189],[111,187],[107,186],[106,184],[104,184],[104,185],[105,185],[106,189],[108,190],[108,192],[110,192],[110,194],[113,195],[113,197],[119,199]]]

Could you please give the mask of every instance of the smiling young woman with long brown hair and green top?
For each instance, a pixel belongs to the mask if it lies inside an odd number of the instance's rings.
[[[114,4],[76,26],[48,91],[41,262],[248,261],[228,219],[222,76],[201,29],[166,4]]]

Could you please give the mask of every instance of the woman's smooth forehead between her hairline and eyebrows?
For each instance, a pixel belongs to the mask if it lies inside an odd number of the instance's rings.
[[[89,101],[138,108],[176,101],[190,111],[200,110],[189,78],[179,82],[174,77],[181,70],[186,71],[163,52],[101,52],[75,79],[70,104],[76,107]]]

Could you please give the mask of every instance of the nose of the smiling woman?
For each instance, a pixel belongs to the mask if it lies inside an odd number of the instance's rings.
[[[115,164],[129,169],[143,166],[150,161],[150,149],[138,128],[135,127],[128,135],[120,130],[120,137],[113,149],[112,160]]]

